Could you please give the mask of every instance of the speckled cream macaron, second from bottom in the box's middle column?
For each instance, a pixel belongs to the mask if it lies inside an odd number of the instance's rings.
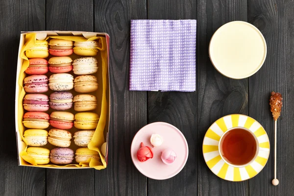
[[[50,129],[48,142],[56,147],[71,146],[72,133],[62,129]]]

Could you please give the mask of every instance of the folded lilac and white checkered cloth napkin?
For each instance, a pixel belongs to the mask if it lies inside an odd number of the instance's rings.
[[[196,20],[131,20],[131,91],[196,90]]]

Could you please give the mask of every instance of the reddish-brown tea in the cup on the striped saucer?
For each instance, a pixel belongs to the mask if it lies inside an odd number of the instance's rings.
[[[232,165],[245,165],[256,154],[256,140],[247,130],[234,128],[225,133],[220,145],[222,157]]]

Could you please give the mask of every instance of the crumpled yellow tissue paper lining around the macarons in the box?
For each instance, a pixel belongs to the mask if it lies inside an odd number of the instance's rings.
[[[71,41],[78,41],[78,42],[97,40],[101,44],[101,45],[99,45],[101,47],[97,47],[97,49],[100,50],[100,55],[101,55],[101,60],[102,60],[102,88],[103,88],[103,90],[102,90],[101,113],[100,113],[100,119],[99,119],[99,122],[98,122],[98,125],[96,128],[96,131],[93,135],[91,142],[88,144],[89,149],[98,151],[101,161],[97,161],[97,160],[89,158],[87,160],[87,162],[79,163],[79,165],[78,164],[70,164],[70,165],[64,165],[64,166],[50,165],[50,164],[37,165],[35,160],[26,153],[27,145],[26,145],[25,149],[20,152],[20,156],[26,162],[32,164],[33,166],[37,166],[37,167],[54,166],[54,167],[62,168],[62,167],[68,167],[68,166],[76,166],[79,168],[80,167],[81,168],[90,167],[90,168],[95,168],[97,170],[104,169],[104,168],[106,168],[106,162],[105,162],[104,156],[100,152],[100,147],[104,143],[103,132],[104,132],[104,128],[106,125],[107,111],[108,111],[108,104],[107,104],[107,98],[106,98],[107,75],[108,75],[106,38],[105,37],[92,37],[90,39],[86,39],[84,37],[79,37],[79,36],[49,36],[44,41],[46,41],[49,38],[64,39],[64,40],[71,40]],[[25,56],[25,50],[30,49],[35,44],[35,42],[36,42],[36,33],[26,34],[25,35],[25,45],[23,46],[23,48],[21,50],[21,58],[24,59],[24,62],[23,62],[23,66],[22,66],[21,73],[19,76],[19,81],[18,81],[18,85],[19,85],[18,128],[19,128],[20,135],[21,135],[23,141],[25,142],[25,144],[27,144],[27,142],[25,141],[25,138],[23,136],[25,128],[24,128],[23,122],[22,122],[23,116],[24,116],[23,99],[25,97],[25,90],[23,88],[23,82],[24,82],[24,78],[25,78],[25,70],[29,66],[28,58]]]

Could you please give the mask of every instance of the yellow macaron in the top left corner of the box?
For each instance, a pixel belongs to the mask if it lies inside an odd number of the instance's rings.
[[[36,40],[31,48],[25,50],[25,55],[27,58],[47,58],[49,56],[48,42]]]

